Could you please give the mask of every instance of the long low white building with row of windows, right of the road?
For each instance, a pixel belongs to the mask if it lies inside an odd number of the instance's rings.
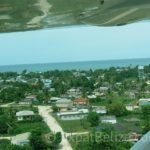
[[[80,120],[85,118],[88,113],[89,113],[88,109],[80,109],[77,111],[57,113],[57,116],[61,120]]]

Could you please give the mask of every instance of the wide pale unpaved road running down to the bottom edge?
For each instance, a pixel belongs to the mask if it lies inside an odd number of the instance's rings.
[[[62,130],[60,125],[57,123],[54,117],[52,117],[49,113],[52,111],[49,106],[38,106],[39,114],[43,117],[46,124],[53,132],[61,132],[62,133],[62,142],[60,144],[60,150],[72,150],[72,147],[65,137],[66,133]]]

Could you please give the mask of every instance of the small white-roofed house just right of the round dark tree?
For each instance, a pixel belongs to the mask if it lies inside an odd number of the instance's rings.
[[[110,123],[110,124],[116,124],[117,119],[115,116],[103,116],[100,118],[101,123]]]

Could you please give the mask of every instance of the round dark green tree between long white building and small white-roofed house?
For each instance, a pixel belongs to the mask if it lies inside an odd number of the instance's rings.
[[[87,116],[87,120],[92,127],[99,125],[99,115],[96,112],[90,112]]]

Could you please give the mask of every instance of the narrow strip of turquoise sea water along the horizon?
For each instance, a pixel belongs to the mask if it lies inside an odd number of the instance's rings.
[[[26,65],[9,65],[0,66],[0,72],[15,71],[48,71],[48,70],[89,70],[105,69],[109,67],[127,67],[136,65],[149,65],[150,58],[144,59],[122,59],[122,60],[103,60],[103,61],[85,61],[85,62],[65,62],[65,63],[45,63],[45,64],[26,64]]]

